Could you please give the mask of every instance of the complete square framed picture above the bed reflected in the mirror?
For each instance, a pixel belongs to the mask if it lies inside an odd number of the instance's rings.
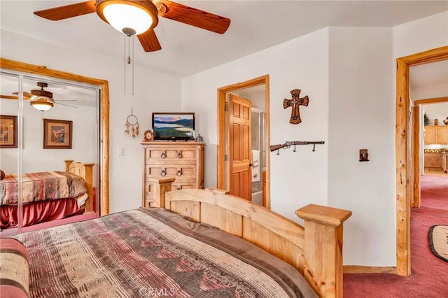
[[[73,121],[43,120],[43,149],[71,149]]]

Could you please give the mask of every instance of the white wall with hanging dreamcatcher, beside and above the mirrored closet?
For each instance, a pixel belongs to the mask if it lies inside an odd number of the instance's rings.
[[[143,132],[151,128],[152,112],[179,111],[180,79],[157,73],[153,69],[142,69],[136,61],[132,96],[129,79],[125,94],[121,60],[109,59],[95,52],[63,48],[4,30],[1,30],[0,38],[1,57],[109,81],[110,211],[114,213],[141,206],[143,149],[140,142]],[[141,134],[137,139],[124,134],[124,125],[131,108],[134,108],[134,115],[139,119]],[[124,156],[117,155],[118,147],[125,148]]]

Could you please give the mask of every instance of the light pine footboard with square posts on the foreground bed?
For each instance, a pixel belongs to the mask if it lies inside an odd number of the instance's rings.
[[[154,179],[154,206],[240,236],[300,271],[319,297],[342,297],[343,222],[351,211],[310,204],[295,213],[304,227],[223,190],[172,190]]]

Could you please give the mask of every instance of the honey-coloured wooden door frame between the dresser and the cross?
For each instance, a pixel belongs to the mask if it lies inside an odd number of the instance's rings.
[[[216,187],[225,189],[225,101],[229,92],[241,90],[248,87],[265,85],[265,148],[269,148],[270,128],[269,128],[269,75],[253,78],[244,82],[218,88],[218,148],[217,148],[217,181]],[[266,154],[266,185],[265,185],[265,207],[271,208],[270,190],[270,154]]]

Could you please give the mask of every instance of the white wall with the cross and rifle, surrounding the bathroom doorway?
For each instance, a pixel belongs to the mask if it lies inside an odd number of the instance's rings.
[[[184,78],[183,109],[197,113],[197,132],[207,142],[205,185],[216,187],[216,90],[265,74],[270,80],[271,144],[325,141],[316,152],[311,146],[297,146],[297,152],[281,150],[280,155],[270,152],[272,209],[299,221],[298,207],[327,203],[328,29]],[[300,125],[291,125],[290,109],[283,109],[283,99],[294,89],[309,97],[309,105],[300,107]]]

